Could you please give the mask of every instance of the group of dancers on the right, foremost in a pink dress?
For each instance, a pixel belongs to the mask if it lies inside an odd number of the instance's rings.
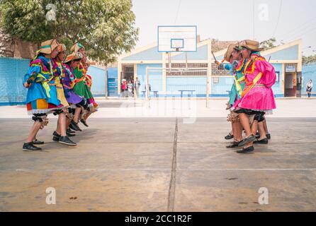
[[[243,40],[230,44],[222,63],[215,61],[219,69],[229,70],[235,80],[227,103],[230,110],[227,121],[231,122],[232,131],[225,139],[234,139],[227,148],[243,147],[237,153],[252,152],[254,143],[267,144],[271,138],[264,115],[276,109],[271,88],[276,82],[276,72],[261,57],[261,50],[259,42]],[[224,61],[229,64],[223,64]]]

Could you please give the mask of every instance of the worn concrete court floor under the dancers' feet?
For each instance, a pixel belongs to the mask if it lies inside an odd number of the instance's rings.
[[[225,148],[225,118],[89,119],[76,148],[51,141],[55,123],[26,153],[30,119],[0,119],[0,211],[316,210],[315,118],[269,119],[269,145],[247,155]]]

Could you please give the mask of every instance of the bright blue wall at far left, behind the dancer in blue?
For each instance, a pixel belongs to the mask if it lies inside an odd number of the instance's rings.
[[[0,57],[0,105],[24,104],[27,89],[23,87],[28,59]]]

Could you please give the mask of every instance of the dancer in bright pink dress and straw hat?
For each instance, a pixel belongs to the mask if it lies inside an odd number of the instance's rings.
[[[273,66],[259,56],[262,48],[259,42],[253,40],[244,40],[240,42],[242,47],[242,57],[247,59],[244,66],[244,76],[246,85],[242,92],[242,97],[235,102],[232,109],[239,114],[239,120],[246,132],[246,138],[239,143],[244,146],[237,153],[249,153],[254,150],[252,145],[256,140],[254,134],[258,130],[258,123],[264,121],[264,114],[270,113],[272,109],[276,109],[276,102],[272,91],[272,85],[276,82],[276,72]],[[254,116],[252,126],[249,124],[249,116]],[[263,129],[259,127],[259,133]]]

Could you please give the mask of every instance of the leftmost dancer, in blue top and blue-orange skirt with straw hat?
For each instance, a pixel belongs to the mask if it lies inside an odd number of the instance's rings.
[[[30,61],[30,69],[24,76],[23,85],[28,88],[26,107],[28,114],[33,114],[34,124],[30,129],[23,150],[41,150],[33,144],[40,129],[47,125],[47,114],[57,112],[60,114],[64,106],[57,97],[55,86],[55,73],[52,67],[52,58],[57,56],[57,40],[47,40],[41,44],[35,59]],[[66,134],[62,134],[62,141],[66,141]],[[61,142],[62,143],[62,142]]]

